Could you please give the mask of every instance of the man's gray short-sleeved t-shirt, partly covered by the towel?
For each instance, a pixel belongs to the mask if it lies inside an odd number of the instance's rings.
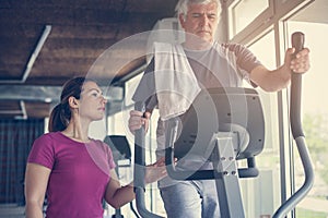
[[[246,47],[242,45],[219,45],[215,43],[213,44],[213,47],[208,50],[184,49],[184,51],[200,88],[243,87],[243,81],[247,81],[253,86],[256,86],[249,80],[249,73],[261,63]],[[147,110],[150,111],[157,106],[154,65],[153,58],[132,97],[134,101],[144,101]],[[165,81],[163,81],[163,83],[165,83]],[[160,118],[156,130],[156,154],[159,157],[165,156],[164,134],[164,122]],[[192,168],[192,164],[190,165],[190,162],[188,162],[188,166]],[[169,179],[164,179],[160,182],[160,186],[168,184],[172,184]]]

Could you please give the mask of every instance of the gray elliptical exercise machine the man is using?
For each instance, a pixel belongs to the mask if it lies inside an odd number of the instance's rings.
[[[304,35],[292,35],[296,52],[302,50]],[[305,171],[303,186],[285,201],[273,218],[282,218],[306,196],[314,182],[312,161],[306,148],[301,123],[302,75],[293,73],[291,84],[291,129]],[[136,110],[144,111],[142,101]],[[210,116],[209,116],[210,114]],[[245,217],[239,189],[239,178],[258,175],[255,157],[265,142],[265,121],[259,96],[249,88],[211,88],[202,90],[183,116],[166,121],[166,169],[175,180],[215,180],[221,217]],[[207,145],[207,146],[204,146]],[[134,137],[134,192],[137,208],[142,217],[160,217],[144,205],[144,129]],[[199,156],[213,165],[212,170],[180,170],[179,161]],[[246,159],[247,167],[238,169],[236,161]]]

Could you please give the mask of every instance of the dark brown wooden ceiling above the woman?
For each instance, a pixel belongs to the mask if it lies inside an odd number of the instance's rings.
[[[118,84],[145,63],[142,33],[174,16],[176,2],[1,0],[0,119],[47,117],[47,95],[59,98],[74,76]]]

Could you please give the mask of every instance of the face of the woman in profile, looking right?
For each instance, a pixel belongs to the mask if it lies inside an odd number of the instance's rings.
[[[104,118],[107,100],[104,98],[96,83],[85,82],[83,84],[79,101],[80,118],[86,118],[90,121],[102,120]]]

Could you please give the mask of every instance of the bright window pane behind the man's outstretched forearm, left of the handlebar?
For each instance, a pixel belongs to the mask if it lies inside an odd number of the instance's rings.
[[[258,59],[269,69],[276,66],[274,35],[270,32],[249,47]],[[256,157],[259,177],[239,180],[243,192],[246,217],[272,215],[280,199],[280,168],[279,166],[279,122],[277,94],[259,92],[266,121],[265,148]]]

